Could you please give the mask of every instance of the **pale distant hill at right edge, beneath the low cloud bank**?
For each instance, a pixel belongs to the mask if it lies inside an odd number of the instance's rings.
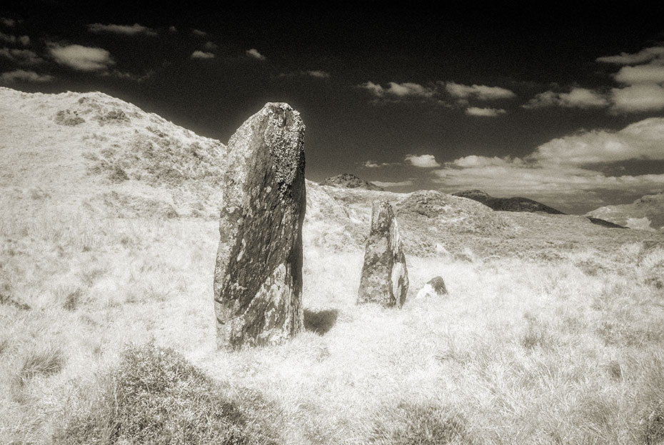
[[[589,211],[586,216],[601,218],[630,229],[664,229],[664,193],[645,195],[632,204],[603,206]]]

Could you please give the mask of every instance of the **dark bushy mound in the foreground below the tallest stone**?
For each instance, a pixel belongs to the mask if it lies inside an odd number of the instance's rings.
[[[273,444],[246,409],[172,349],[129,346],[88,412],[56,444]]]

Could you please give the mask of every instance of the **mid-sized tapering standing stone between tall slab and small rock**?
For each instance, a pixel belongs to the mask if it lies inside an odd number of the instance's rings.
[[[402,306],[408,291],[408,269],[394,211],[388,201],[373,201],[371,232],[366,242],[358,303]]]

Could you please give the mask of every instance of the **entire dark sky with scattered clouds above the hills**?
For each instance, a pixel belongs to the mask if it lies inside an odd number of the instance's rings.
[[[664,189],[662,2],[314,4],[10,3],[0,84],[102,91],[224,142],[287,101],[314,181],[575,212]]]

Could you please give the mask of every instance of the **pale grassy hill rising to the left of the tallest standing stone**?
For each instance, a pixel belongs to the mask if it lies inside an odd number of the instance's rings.
[[[0,195],[99,216],[216,216],[224,150],[101,93],[0,88]],[[39,201],[39,205],[34,201]]]

